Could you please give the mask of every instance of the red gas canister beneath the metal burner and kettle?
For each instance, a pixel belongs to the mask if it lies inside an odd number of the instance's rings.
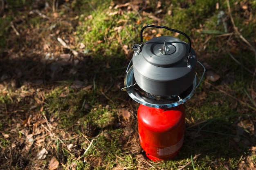
[[[141,147],[153,161],[175,157],[180,151],[185,132],[183,104],[172,108],[138,108],[138,131]]]

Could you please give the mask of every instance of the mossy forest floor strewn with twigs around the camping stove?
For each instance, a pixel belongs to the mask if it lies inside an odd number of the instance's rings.
[[[253,0],[0,0],[0,170],[255,170]],[[185,32],[206,75],[177,157],[139,146],[124,87],[147,24]],[[144,41],[182,35],[148,28]],[[198,64],[198,76],[203,69]]]

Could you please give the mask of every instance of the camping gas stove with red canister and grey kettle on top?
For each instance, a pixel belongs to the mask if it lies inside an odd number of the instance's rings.
[[[184,35],[189,44],[160,36],[143,42],[148,27],[167,29]],[[137,112],[141,147],[153,160],[175,157],[182,148],[185,132],[184,103],[195,93],[205,73],[198,62],[191,40],[181,31],[166,26],[147,25],[140,32],[141,44],[135,44],[128,64],[125,87],[128,95],[140,104]],[[195,71],[199,63],[204,72],[200,81]]]

